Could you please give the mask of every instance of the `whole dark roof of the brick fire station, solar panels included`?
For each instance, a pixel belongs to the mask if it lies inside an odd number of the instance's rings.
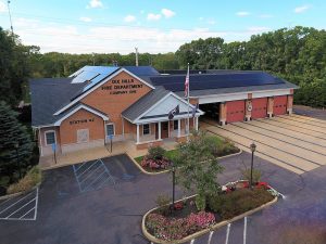
[[[184,95],[186,72],[183,75],[160,75],[151,66],[125,66],[124,68],[156,87],[122,113],[124,117],[131,121],[170,91],[179,97]],[[76,95],[80,95],[80,93],[100,82],[102,77],[92,85],[87,82],[72,84],[72,79],[73,77],[42,78],[29,81],[33,104],[32,126],[47,126],[60,119],[80,103],[58,116],[53,114],[67,105]],[[190,74],[190,97],[297,88],[296,85],[265,72],[206,70],[205,74]]]

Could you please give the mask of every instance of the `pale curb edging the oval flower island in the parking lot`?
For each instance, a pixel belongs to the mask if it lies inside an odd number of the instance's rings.
[[[192,195],[192,196],[195,196],[195,195]],[[192,196],[188,196],[188,197],[185,197],[185,198],[190,198],[190,197],[192,197]],[[184,200],[185,200],[185,198],[184,198]],[[203,235],[203,234],[205,234],[205,233],[209,233],[210,231],[216,230],[216,229],[218,229],[218,228],[222,228],[222,227],[224,227],[224,226],[227,226],[228,223],[231,223],[231,222],[237,221],[237,220],[239,220],[239,219],[242,219],[242,218],[244,218],[244,217],[247,217],[247,216],[250,216],[250,215],[252,215],[252,214],[254,214],[254,213],[256,213],[256,211],[262,210],[263,208],[269,207],[271,205],[275,204],[275,203],[277,202],[277,200],[278,200],[278,197],[275,196],[274,200],[272,200],[272,201],[268,202],[268,203],[263,204],[263,205],[260,206],[260,207],[256,207],[256,208],[254,208],[254,209],[251,209],[251,210],[249,210],[249,211],[246,211],[246,213],[243,213],[243,214],[241,214],[241,215],[238,215],[238,216],[236,216],[236,217],[234,217],[234,218],[231,218],[231,219],[223,220],[222,222],[217,222],[217,223],[215,223],[214,226],[212,226],[212,227],[210,227],[210,228],[208,228],[208,229],[198,231],[198,232],[196,232],[196,233],[193,233],[193,234],[190,234],[190,235],[188,235],[188,236],[186,236],[186,237],[184,237],[184,239],[181,239],[181,240],[175,240],[175,241],[163,241],[163,240],[156,239],[155,236],[153,236],[152,234],[150,234],[150,233],[147,231],[147,228],[146,228],[146,226],[145,226],[145,220],[146,220],[146,218],[147,218],[147,216],[148,216],[149,214],[151,214],[153,210],[155,210],[155,209],[159,208],[159,207],[155,207],[155,208],[150,209],[149,211],[147,211],[147,213],[143,215],[142,220],[141,220],[141,230],[142,230],[143,235],[145,235],[149,241],[151,241],[151,242],[153,242],[153,243],[160,243],[160,244],[180,244],[180,243],[189,242],[189,241],[191,241],[191,240],[193,240],[193,239],[196,239],[196,237],[199,237],[199,236],[201,236],[201,235]],[[179,201],[183,201],[183,200],[178,200],[178,201],[176,201],[176,203],[179,202]]]

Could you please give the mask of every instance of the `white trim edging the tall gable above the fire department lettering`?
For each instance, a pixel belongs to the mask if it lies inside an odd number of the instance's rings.
[[[135,79],[138,79],[139,81],[143,82],[145,85],[147,85],[148,87],[155,89],[152,85],[148,84],[147,81],[145,81],[143,79],[139,78],[138,76],[134,75],[133,73],[128,72],[125,68],[120,68],[117,72],[114,72],[113,74],[111,74],[109,77],[104,78],[101,82],[98,82],[96,86],[91,87],[89,90],[87,90],[86,92],[82,93],[79,97],[77,97],[76,99],[74,99],[72,102],[70,102],[67,105],[63,106],[62,108],[60,108],[59,111],[57,111],[53,115],[59,115],[62,112],[66,111],[68,107],[71,107],[72,105],[74,105],[76,102],[80,101],[82,99],[84,99],[86,95],[88,95],[89,93],[91,93],[93,90],[98,89],[100,86],[102,86],[103,84],[108,82],[110,79],[112,79],[113,77],[117,76],[118,74],[121,74],[122,72],[127,73],[128,75],[133,76]]]

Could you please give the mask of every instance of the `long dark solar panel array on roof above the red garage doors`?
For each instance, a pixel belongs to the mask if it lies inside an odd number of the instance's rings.
[[[163,86],[166,90],[183,91],[186,75],[166,75],[150,77],[154,86]],[[234,87],[277,85],[285,81],[264,72],[190,74],[190,90],[208,90]]]

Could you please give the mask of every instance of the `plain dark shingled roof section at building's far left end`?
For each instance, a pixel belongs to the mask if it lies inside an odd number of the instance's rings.
[[[72,78],[30,79],[32,126],[51,125],[61,116],[53,114],[71,102],[85,84],[71,84]]]

